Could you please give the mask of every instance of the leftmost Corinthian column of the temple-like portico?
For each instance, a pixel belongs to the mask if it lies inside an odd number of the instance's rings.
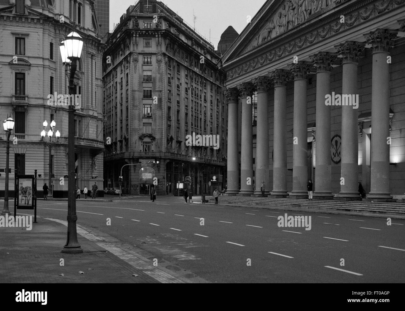
[[[228,153],[226,194],[239,192],[239,148],[238,148],[238,89],[226,89],[228,102]]]

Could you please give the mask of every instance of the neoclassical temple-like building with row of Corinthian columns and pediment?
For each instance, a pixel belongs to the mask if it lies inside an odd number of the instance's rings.
[[[405,0],[266,1],[222,57],[227,193],[264,181],[266,195],[306,198],[311,179],[315,198],[358,200],[360,181],[368,200],[401,199],[404,17]]]

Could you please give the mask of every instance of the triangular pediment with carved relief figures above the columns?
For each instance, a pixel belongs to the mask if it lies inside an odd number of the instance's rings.
[[[247,32],[243,31],[235,42],[243,43],[243,46],[234,45],[226,58],[236,58],[287,32],[293,32],[294,28],[345,1],[347,0],[268,0],[262,7],[265,11],[261,9],[262,13],[259,11],[253,17],[253,24],[247,26]]]

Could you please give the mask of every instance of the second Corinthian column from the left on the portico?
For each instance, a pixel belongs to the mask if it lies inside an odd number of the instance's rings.
[[[237,87],[239,89],[242,101],[241,191],[239,192],[239,194],[249,195],[253,194],[253,85],[251,83],[241,83]]]

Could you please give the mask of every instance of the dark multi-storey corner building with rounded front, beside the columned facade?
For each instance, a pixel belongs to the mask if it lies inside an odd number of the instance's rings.
[[[209,192],[209,176],[224,175],[226,165],[225,75],[213,45],[153,0],[130,6],[106,44],[105,187],[119,187],[125,164],[159,161],[126,166],[124,193],[149,194],[156,178],[159,195],[181,194],[177,183],[187,176],[194,194]]]

